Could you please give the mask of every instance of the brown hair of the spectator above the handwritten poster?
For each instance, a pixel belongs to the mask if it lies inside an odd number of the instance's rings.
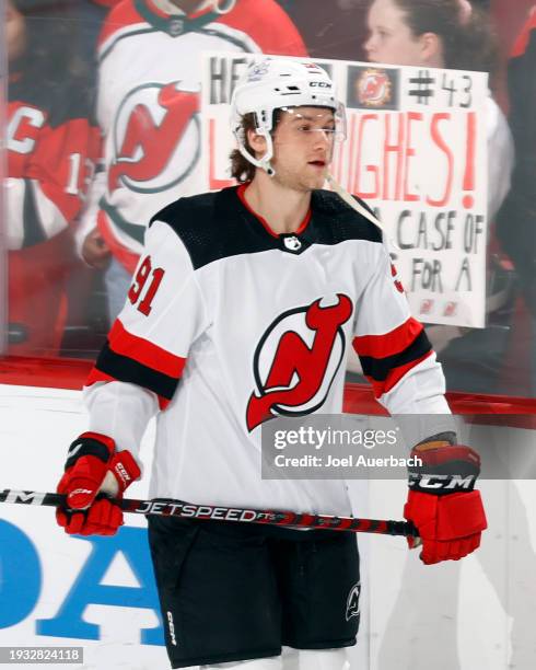
[[[413,35],[435,33],[440,37],[445,68],[496,71],[499,48],[486,10],[463,0],[393,1],[405,13]]]

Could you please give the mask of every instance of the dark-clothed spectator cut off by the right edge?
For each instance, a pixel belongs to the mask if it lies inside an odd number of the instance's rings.
[[[510,124],[515,141],[512,189],[498,217],[497,234],[514,262],[531,313],[529,394],[536,395],[536,5],[514,45],[508,68]],[[520,330],[521,331],[521,330]],[[522,334],[523,335],[523,334]]]

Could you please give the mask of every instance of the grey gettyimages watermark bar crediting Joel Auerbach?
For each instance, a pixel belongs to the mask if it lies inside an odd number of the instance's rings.
[[[452,431],[477,451],[480,480],[536,480],[534,415],[308,415],[263,424],[265,480],[406,480],[411,448]]]

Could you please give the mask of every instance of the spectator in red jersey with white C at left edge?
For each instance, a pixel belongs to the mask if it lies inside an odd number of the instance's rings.
[[[67,282],[79,261],[72,226],[98,154],[89,120],[85,72],[70,39],[67,5],[37,16],[36,0],[7,4],[8,353],[59,351],[67,315]],[[71,49],[72,47],[72,49]]]

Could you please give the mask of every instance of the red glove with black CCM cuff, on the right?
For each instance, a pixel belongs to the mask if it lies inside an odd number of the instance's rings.
[[[422,465],[409,467],[409,493],[404,517],[417,527],[427,565],[458,561],[480,545],[487,528],[480,493],[474,490],[480,457],[448,440],[421,442],[411,451]],[[420,544],[408,538],[410,548]]]

